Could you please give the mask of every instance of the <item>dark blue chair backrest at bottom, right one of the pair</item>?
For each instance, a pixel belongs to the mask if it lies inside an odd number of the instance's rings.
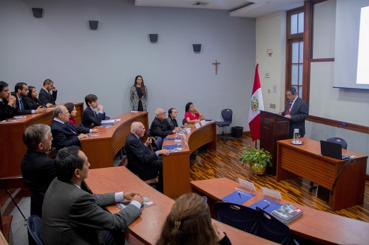
[[[277,244],[289,244],[290,227],[287,227],[286,224],[272,217],[272,215],[269,215],[268,212],[265,212],[260,207],[256,207],[256,210],[262,214],[257,236],[274,241]]]

